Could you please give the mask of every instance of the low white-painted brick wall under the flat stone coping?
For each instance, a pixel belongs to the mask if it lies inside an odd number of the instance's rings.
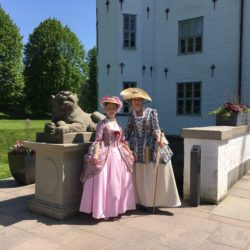
[[[229,140],[184,139],[184,198],[190,194],[190,152],[201,145],[201,198],[220,201],[228,191],[228,173],[250,159],[250,134]]]

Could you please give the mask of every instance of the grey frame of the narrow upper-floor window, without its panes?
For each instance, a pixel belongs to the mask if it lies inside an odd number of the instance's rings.
[[[125,29],[125,18],[128,17],[128,29]],[[131,19],[134,18],[134,29],[131,29]],[[125,34],[128,34],[128,46],[125,46]],[[132,34],[134,34],[134,46],[131,46]],[[136,50],[137,46],[137,15],[134,14],[123,14],[123,39],[122,39],[122,47],[123,49],[128,50]]]

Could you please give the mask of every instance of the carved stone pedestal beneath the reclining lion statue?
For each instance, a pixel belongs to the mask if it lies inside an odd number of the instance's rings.
[[[79,211],[83,156],[90,143],[25,142],[36,151],[35,198],[31,211],[63,220]]]

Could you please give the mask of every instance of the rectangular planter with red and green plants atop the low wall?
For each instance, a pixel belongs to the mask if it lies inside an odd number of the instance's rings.
[[[216,125],[243,126],[250,124],[250,108],[243,104],[226,102],[223,107],[208,113],[216,115]]]

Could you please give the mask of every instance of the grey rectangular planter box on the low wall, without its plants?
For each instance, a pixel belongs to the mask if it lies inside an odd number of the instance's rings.
[[[224,118],[221,114],[216,115],[217,126],[243,126],[250,125],[250,113],[233,113],[229,118]]]

